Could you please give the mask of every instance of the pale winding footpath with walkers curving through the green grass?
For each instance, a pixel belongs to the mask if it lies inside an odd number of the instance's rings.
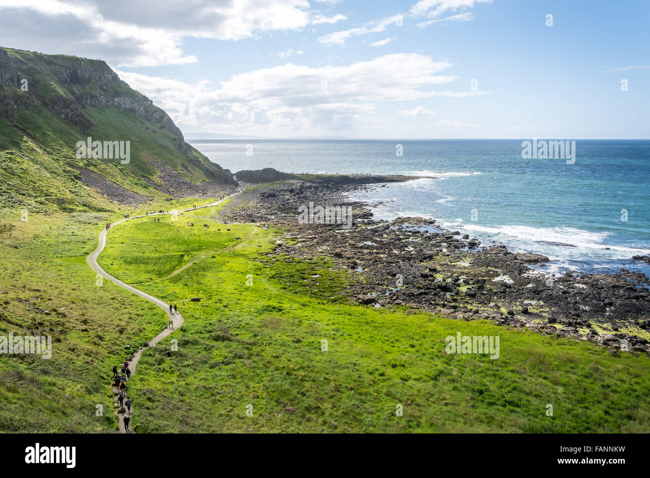
[[[229,198],[232,198],[233,196],[236,196],[239,194],[241,191],[237,191],[237,193],[229,194],[229,196],[226,196],[225,198],[222,198],[216,202],[213,202],[212,204],[206,204],[205,206],[199,206],[199,207],[190,207],[189,209],[183,209],[182,211],[177,211],[177,213],[185,213],[187,211],[194,211],[196,209],[203,209],[204,207],[213,207],[216,206],[217,204],[220,204],[224,201],[226,201]],[[115,222],[112,224],[111,229],[114,226],[117,226],[121,222],[125,222],[127,220],[131,219],[138,219],[140,217],[153,217],[155,215],[172,215],[172,213],[151,213],[149,215],[140,215],[140,216],[133,216],[133,217],[126,217],[124,219],[118,220],[118,222]],[[110,230],[110,229],[109,229]],[[166,336],[174,332],[174,330],[177,330],[181,325],[183,325],[183,315],[181,315],[178,312],[170,312],[170,304],[167,304],[166,302],[163,302],[161,299],[158,299],[157,297],[153,297],[153,295],[149,295],[146,292],[142,292],[139,289],[136,289],[132,285],[126,284],[125,282],[122,282],[121,280],[114,278],[111,276],[108,272],[104,271],[101,267],[99,267],[99,264],[97,263],[97,258],[99,256],[99,253],[104,250],[104,247],[106,246],[106,234],[107,230],[104,228],[100,233],[99,233],[99,245],[97,248],[88,256],[86,256],[86,264],[90,269],[95,271],[97,274],[101,275],[103,278],[110,280],[113,284],[119,285],[123,289],[127,289],[127,291],[133,292],[136,295],[139,295],[143,299],[148,300],[149,302],[159,306],[164,312],[168,315],[170,322],[172,323],[172,328],[167,326],[160,334],[152,338],[151,340],[148,341],[149,347],[154,347],[155,344],[162,339],[164,339]],[[135,375],[135,369],[136,365],[138,365],[138,361],[140,360],[140,355],[142,355],[142,351],[144,351],[144,348],[138,349],[134,354],[133,354],[133,359],[129,361],[129,369],[131,370],[131,377]],[[114,387],[113,392],[116,393],[114,397],[114,403],[118,403],[118,388]],[[128,393],[127,393],[128,395]],[[133,399],[131,399],[133,400]],[[127,412],[129,417],[133,416],[134,412],[134,406],[131,405],[131,411]],[[120,409],[116,410],[116,416],[118,417],[118,424],[120,426],[120,433],[133,433],[132,427],[129,427],[129,431],[126,431],[124,428],[124,420],[123,420],[123,413],[120,413]]]

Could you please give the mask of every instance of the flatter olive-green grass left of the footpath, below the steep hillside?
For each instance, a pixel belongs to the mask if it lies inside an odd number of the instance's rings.
[[[52,356],[0,356],[0,431],[117,430],[110,369],[129,353],[125,345],[137,348],[166,320],[159,308],[112,282],[97,285],[85,256],[109,217],[31,214],[7,222],[5,215],[0,335],[51,336]]]

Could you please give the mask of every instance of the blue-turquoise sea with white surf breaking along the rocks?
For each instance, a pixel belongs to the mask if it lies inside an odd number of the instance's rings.
[[[523,159],[522,140],[188,141],[233,172],[272,167],[435,176],[372,187],[353,198],[369,201],[378,219],[434,217],[484,244],[545,254],[547,271],[624,267],[650,275],[649,265],[631,260],[650,254],[649,140],[576,140],[574,164]],[[621,220],[623,209],[627,220]]]

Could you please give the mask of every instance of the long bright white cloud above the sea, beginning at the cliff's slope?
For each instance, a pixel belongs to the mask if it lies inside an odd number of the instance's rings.
[[[207,81],[190,85],[138,73],[118,74],[185,129],[263,128],[285,133],[288,129],[351,129],[377,102],[453,96],[429,89],[455,79],[439,74],[449,66],[418,53],[395,53],[346,66],[287,63],[233,75],[218,87]],[[421,109],[419,114],[426,113]]]

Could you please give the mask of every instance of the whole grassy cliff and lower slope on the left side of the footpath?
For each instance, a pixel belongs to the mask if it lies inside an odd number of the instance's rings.
[[[88,136],[129,141],[129,163],[78,158]],[[233,179],[105,62],[0,47],[0,336],[51,336],[53,349],[49,360],[0,355],[1,432],[116,430],[110,368],[165,317],[98,282],[85,256],[124,213],[205,203],[170,191],[172,182],[209,193]],[[106,191],[131,194],[137,206]]]

